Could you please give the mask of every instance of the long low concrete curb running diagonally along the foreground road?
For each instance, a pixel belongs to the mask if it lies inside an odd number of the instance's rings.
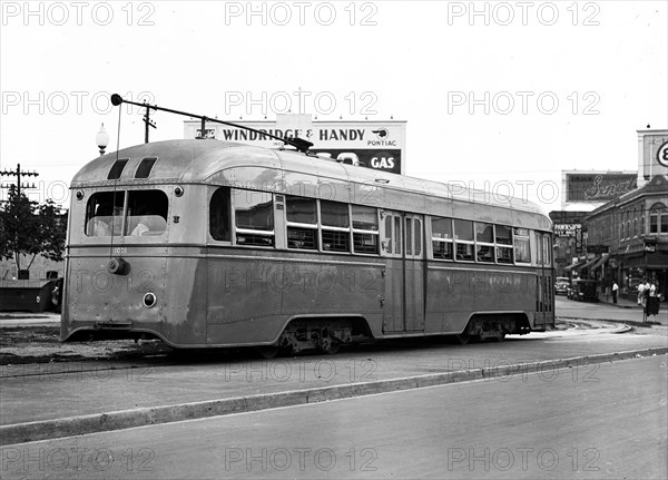
[[[431,373],[426,375],[380,380],[366,383],[351,383],[307,390],[267,393],[253,396],[207,400],[203,402],[122,410],[109,413],[95,413],[89,415],[43,420],[29,423],[14,423],[0,427],[0,445],[57,439],[62,437],[82,435],[87,433],[112,430],[124,430],[183,420],[203,419],[207,417],[229,415],[233,413],[253,412],[258,410],[276,409],[279,406],[303,405],[328,400],[350,399],[384,392],[422,389],[425,386],[444,385],[449,383],[470,382],[474,380],[492,380],[494,378],[503,379],[518,374],[541,374],[543,372],[549,372],[547,376],[551,378],[551,372],[558,369],[586,366],[596,363],[613,362],[639,356],[662,355],[667,353],[668,347],[661,346],[654,349],[631,350],[627,352],[576,356],[571,359],[505,364],[491,369],[472,369],[456,372]]]

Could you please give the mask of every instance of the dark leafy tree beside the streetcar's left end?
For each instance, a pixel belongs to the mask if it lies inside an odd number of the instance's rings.
[[[16,186],[9,188],[7,202],[0,206],[0,257],[13,258],[17,271],[21,254],[32,255],[29,270],[37,255],[55,262],[62,261],[67,232],[67,213],[49,199],[42,205],[30,200]]]

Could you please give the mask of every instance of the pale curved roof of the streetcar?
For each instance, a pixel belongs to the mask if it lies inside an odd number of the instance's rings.
[[[137,167],[148,157],[157,158],[150,175],[136,179]],[[118,180],[109,180],[110,169],[117,159],[128,161]],[[544,212],[527,199],[492,195],[490,192],[468,188],[459,182],[438,183],[345,165],[295,150],[209,139],[156,141],[104,155],[84,166],[72,179],[70,188],[166,183],[269,189],[348,203],[376,203],[376,206],[384,208],[406,209],[412,206],[415,212],[432,210],[429,207],[434,200],[458,200],[456,204],[481,205],[493,210],[537,214],[543,216],[544,221],[532,227],[551,229],[551,222]],[[321,192],[316,194],[316,189]],[[323,193],[323,189],[326,192]],[[382,203],[377,202],[376,194],[382,194]],[[485,210],[482,208],[480,212]]]

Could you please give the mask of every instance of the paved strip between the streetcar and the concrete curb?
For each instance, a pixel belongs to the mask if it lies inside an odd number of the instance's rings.
[[[587,321],[564,331],[510,335],[469,345],[423,341],[361,346],[337,355],[271,361],[212,355],[132,362],[66,362],[0,368],[0,424],[105,413],[212,399],[489,369],[625,352],[668,344],[665,327],[638,334]],[[645,330],[645,329],[644,329]],[[596,366],[582,365],[581,370]],[[73,398],[76,396],[76,401]],[[46,408],[48,405],[48,408]]]

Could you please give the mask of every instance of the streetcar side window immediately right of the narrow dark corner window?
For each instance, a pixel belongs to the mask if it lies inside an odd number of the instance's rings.
[[[274,199],[266,192],[233,189],[236,243],[274,246]]]

